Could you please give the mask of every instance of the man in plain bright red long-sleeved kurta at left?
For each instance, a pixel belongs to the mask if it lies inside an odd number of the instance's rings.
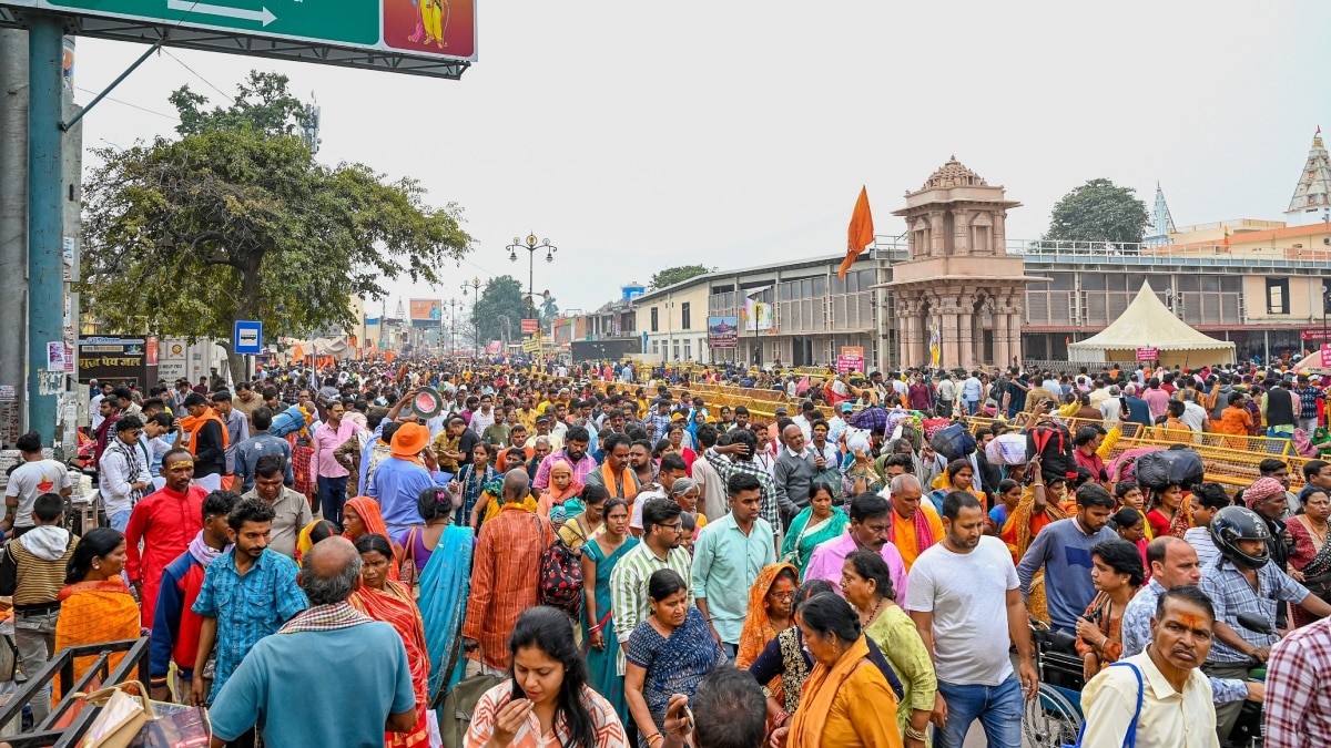
[[[162,571],[189,548],[189,542],[204,528],[204,498],[208,496],[208,491],[190,484],[194,457],[189,450],[166,453],[161,474],[166,486],[144,496],[125,527],[125,574],[138,594],[144,628],[153,627]]]

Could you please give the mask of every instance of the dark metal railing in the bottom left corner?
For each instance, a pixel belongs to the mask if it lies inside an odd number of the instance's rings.
[[[9,720],[19,719],[23,708],[33,699],[49,699],[51,696],[45,692],[45,687],[57,676],[60,677],[60,703],[52,707],[51,715],[41,724],[35,725],[32,732],[5,737],[4,741],[13,748],[40,748],[44,745],[69,748],[77,745],[83,740],[84,733],[88,732],[88,728],[92,727],[93,720],[101,713],[101,707],[85,704],[69,727],[63,729],[55,728],[53,725],[80,701],[73,695],[80,691],[89,691],[89,687],[95,683],[93,679],[98,679],[96,688],[109,688],[128,680],[138,680],[146,688],[149,680],[148,644],[149,639],[145,636],[125,639],[122,642],[69,647],[56,652],[47,661],[47,667],[29,677],[23,688],[4,707],[0,707],[0,724],[9,724]],[[118,665],[112,668],[110,657],[116,652],[125,652],[125,657]],[[75,657],[96,657],[79,680],[75,680]]]

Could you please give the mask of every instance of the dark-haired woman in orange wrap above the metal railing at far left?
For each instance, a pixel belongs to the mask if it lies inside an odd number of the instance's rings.
[[[125,568],[125,536],[110,527],[89,530],[75,547],[60,591],[60,618],[56,620],[56,651],[84,644],[138,639],[138,604],[120,572]],[[116,652],[106,660],[114,669],[125,659]],[[75,683],[97,660],[96,655],[75,657]],[[85,691],[96,685],[88,684]],[[53,684],[52,703],[60,701],[60,679]]]

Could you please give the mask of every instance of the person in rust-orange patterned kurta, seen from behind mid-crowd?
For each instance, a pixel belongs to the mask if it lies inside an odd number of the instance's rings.
[[[540,604],[535,571],[542,552],[555,542],[550,522],[523,508],[527,492],[527,471],[510,470],[503,478],[503,510],[480,526],[471,564],[463,647],[492,672],[508,672],[508,638],[522,611]]]

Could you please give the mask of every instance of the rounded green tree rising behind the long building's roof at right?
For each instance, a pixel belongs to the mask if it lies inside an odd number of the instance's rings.
[[[1133,188],[1109,180],[1090,180],[1054,205],[1046,240],[1086,242],[1141,242],[1150,224],[1146,204]]]

